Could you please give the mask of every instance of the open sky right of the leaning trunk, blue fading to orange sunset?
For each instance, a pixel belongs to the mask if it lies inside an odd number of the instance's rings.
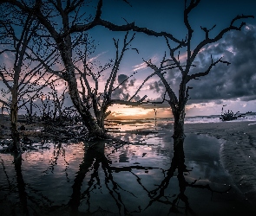
[[[137,26],[159,32],[166,31],[180,40],[185,39],[187,29],[183,22],[183,1],[129,0],[128,2],[129,4],[122,0],[104,0],[102,19],[118,25],[135,22]],[[94,3],[96,1],[89,4],[87,9],[92,15],[95,13]],[[194,29],[192,49],[204,39],[204,32],[200,26],[210,29],[216,24],[216,27],[210,32],[211,37],[218,34],[221,29],[226,28],[237,15],[256,16],[255,8],[256,2],[253,0],[201,0],[188,17],[192,29]],[[231,64],[226,66],[220,63],[213,67],[207,76],[188,83],[188,86],[192,86],[193,89],[189,92],[190,99],[186,107],[187,116],[220,114],[222,105],[226,105],[226,109],[234,112],[256,111],[256,19],[249,18],[237,21],[236,25],[239,26],[240,22],[246,22],[242,31],[231,31],[224,35],[220,41],[200,50],[200,54],[194,61],[196,67],[191,73],[204,71],[210,64],[211,54],[214,60],[223,56],[223,60],[227,60]],[[89,30],[89,35],[98,44],[91,60],[104,64],[109,59],[115,58],[113,38],[119,39],[121,46],[125,33],[113,32],[98,26]],[[133,32],[130,32],[128,38],[131,38],[132,35]],[[125,53],[119,70],[120,79],[136,73],[128,80],[128,84],[121,86],[121,89],[114,93],[114,98],[128,98],[133,95],[143,80],[152,73],[152,70],[143,63],[143,59],[151,59],[155,65],[159,65],[165,52],[168,56],[164,38],[143,33],[135,34],[131,48],[137,48],[139,54],[132,49]],[[180,59],[186,60],[186,50],[181,50]],[[4,58],[0,60],[3,61]],[[108,72],[104,73],[100,79],[101,86],[104,85],[107,77]],[[177,94],[181,80],[179,71],[168,71],[166,78]],[[143,86],[139,92],[139,97],[148,95],[147,100],[149,101],[161,101],[163,93],[164,88],[160,79],[153,77]],[[68,101],[69,104],[70,100]],[[113,105],[109,108],[112,111],[109,118],[154,118],[154,109],[157,110],[158,118],[172,117],[169,105],[148,104],[140,107]]]

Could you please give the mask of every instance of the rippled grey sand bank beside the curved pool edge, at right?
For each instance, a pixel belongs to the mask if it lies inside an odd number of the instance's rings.
[[[223,141],[220,160],[233,183],[246,198],[256,203],[256,124],[221,122],[185,124],[186,133],[207,134]]]

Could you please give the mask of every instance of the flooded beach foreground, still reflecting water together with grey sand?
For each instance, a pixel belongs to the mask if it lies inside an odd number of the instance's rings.
[[[189,171],[182,176],[187,182],[185,197],[197,215],[254,215],[255,122],[185,124]],[[0,121],[7,134],[8,124]],[[69,213],[70,206],[81,214],[167,215],[182,194],[177,170],[173,175],[168,171],[174,154],[170,119],[111,122],[111,134],[126,144],[54,142],[52,137],[36,141],[30,131],[38,125],[24,125],[33,150],[23,152],[22,162],[16,165],[13,156],[0,154],[0,198],[8,198],[0,199],[3,215],[10,215],[13,208],[18,212],[20,201],[38,215],[63,215]],[[177,210],[185,213],[186,205],[181,200]]]

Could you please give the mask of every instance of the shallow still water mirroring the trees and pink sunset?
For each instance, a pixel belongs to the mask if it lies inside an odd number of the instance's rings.
[[[121,130],[158,133],[115,133],[135,144],[35,143],[38,150],[15,163],[14,156],[0,154],[1,215],[253,215],[229,187],[219,140],[187,135],[184,184],[177,170],[171,172],[171,131],[154,126]]]

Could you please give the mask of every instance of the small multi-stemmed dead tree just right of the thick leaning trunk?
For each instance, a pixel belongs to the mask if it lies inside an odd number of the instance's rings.
[[[123,47],[120,49],[119,40],[115,40],[115,60],[111,66],[111,62],[105,64],[104,66],[100,66],[98,70],[96,69],[93,62],[89,62],[89,56],[88,56],[88,49],[89,44],[88,41],[85,41],[85,48],[84,54],[82,54],[82,69],[76,67],[75,69],[78,71],[80,75],[80,84],[82,86],[82,91],[80,91],[82,101],[85,103],[85,105],[89,109],[93,109],[93,112],[95,114],[95,118],[97,121],[97,124],[100,126],[100,128],[106,132],[104,127],[104,120],[108,117],[108,115],[111,113],[111,111],[107,111],[108,107],[110,105],[119,104],[119,105],[142,105],[144,103],[144,99],[147,98],[147,95],[144,97],[135,100],[135,96],[140,91],[141,87],[145,84],[143,82],[139,89],[135,92],[134,95],[129,96],[129,94],[126,94],[126,98],[114,98],[113,94],[115,91],[117,91],[121,86],[127,85],[128,79],[130,79],[132,76],[135,75],[133,73],[130,76],[127,76],[127,79],[122,80],[120,83],[117,83],[116,79],[118,78],[118,70],[121,64],[121,60],[124,56],[124,53],[129,49],[128,46],[130,46],[131,42],[135,39],[135,34],[132,35],[130,39],[128,39],[128,32],[124,36],[123,39]],[[81,41],[82,42],[82,41]],[[131,48],[135,49],[135,48]],[[135,49],[136,50],[136,49]],[[138,50],[136,50],[138,52]],[[80,54],[81,55],[81,54]],[[109,68],[110,67],[110,68]],[[105,70],[110,69],[109,75],[106,75]],[[107,72],[108,74],[108,72]],[[99,78],[101,76],[107,77],[106,82],[104,83],[104,88],[100,89],[99,84]],[[88,77],[90,77],[92,80],[88,80]]]

